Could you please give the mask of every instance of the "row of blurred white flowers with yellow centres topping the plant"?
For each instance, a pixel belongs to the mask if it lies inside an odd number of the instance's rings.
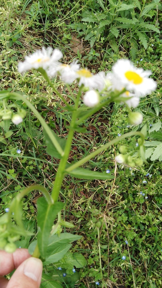
[[[77,81],[79,86],[84,85],[89,90],[83,96],[83,102],[88,107],[93,107],[100,102],[99,93],[104,92],[104,95],[111,91],[119,93],[125,89],[126,91],[120,97],[125,98],[124,102],[128,107],[135,108],[140,102],[140,97],[150,94],[157,87],[156,82],[149,78],[150,71],[134,67],[127,59],[118,60],[112,67],[112,71],[107,74],[99,72],[94,75],[88,69],[81,69],[77,61],[62,65],[59,61],[61,58],[60,50],[43,47],[42,50],[25,56],[25,61],[18,64],[18,71],[23,73],[32,68],[43,68],[49,77],[60,75],[66,84]]]

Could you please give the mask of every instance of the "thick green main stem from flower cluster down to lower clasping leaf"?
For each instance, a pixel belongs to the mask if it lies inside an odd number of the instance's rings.
[[[74,135],[74,127],[75,127],[75,121],[77,119],[77,109],[78,109],[80,96],[81,96],[81,88],[79,89],[79,92],[77,94],[77,98],[75,101],[75,108],[74,108],[74,111],[72,114],[71,124],[69,127],[68,138],[66,140],[66,146],[64,149],[64,155],[62,156],[62,159],[60,160],[60,164],[58,166],[58,170],[57,170],[55,181],[54,181],[54,186],[52,189],[51,196],[52,196],[52,199],[54,200],[54,202],[58,201],[58,196],[60,193],[62,181],[63,181],[64,175],[65,175],[66,163],[68,160],[68,156],[70,153],[71,144],[72,144],[72,140],[73,140],[73,135]]]

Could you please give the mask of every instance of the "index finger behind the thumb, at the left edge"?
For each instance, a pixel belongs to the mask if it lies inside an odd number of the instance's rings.
[[[29,257],[31,255],[28,253],[28,249],[16,249],[14,253],[0,251],[0,275],[10,273]]]

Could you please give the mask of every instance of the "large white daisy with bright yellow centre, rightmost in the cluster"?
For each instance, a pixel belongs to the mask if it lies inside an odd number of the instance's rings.
[[[118,60],[112,68],[113,78],[118,86],[123,86],[129,91],[133,91],[136,96],[146,96],[157,87],[156,82],[148,78],[150,71],[136,68],[127,59]],[[118,88],[116,87],[118,90]]]

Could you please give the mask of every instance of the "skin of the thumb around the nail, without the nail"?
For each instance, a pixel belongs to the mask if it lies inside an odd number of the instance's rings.
[[[27,261],[27,260],[26,260]],[[16,269],[11,279],[8,282],[6,288],[39,288],[41,285],[41,274],[39,276],[38,281],[34,281],[28,276],[24,275],[24,266],[26,264],[24,261],[20,266]],[[42,265],[43,269],[43,265]]]

